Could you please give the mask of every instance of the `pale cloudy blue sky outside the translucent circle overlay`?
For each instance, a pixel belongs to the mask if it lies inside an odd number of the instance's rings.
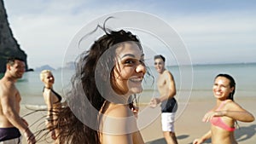
[[[69,44],[84,26],[124,10],[165,21],[182,38],[192,64],[256,62],[254,0],[3,1],[30,68],[61,67]]]

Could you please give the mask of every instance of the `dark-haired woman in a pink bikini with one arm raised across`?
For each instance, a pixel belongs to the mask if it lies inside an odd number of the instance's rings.
[[[211,130],[200,139],[195,139],[193,144],[201,144],[210,138],[212,144],[237,144],[234,136],[236,121],[253,122],[254,117],[233,100],[235,89],[234,78],[228,74],[218,74],[212,87],[217,105],[202,119],[203,122],[212,123]]]

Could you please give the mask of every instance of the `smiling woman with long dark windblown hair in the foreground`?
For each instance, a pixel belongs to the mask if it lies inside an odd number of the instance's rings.
[[[144,143],[131,111],[131,96],[142,92],[146,74],[137,36],[110,31],[80,55],[67,107],[58,112],[60,143]],[[97,30],[96,29],[96,30]]]

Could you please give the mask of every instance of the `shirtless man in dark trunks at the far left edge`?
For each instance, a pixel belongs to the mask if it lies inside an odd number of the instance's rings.
[[[22,132],[27,143],[36,143],[26,120],[20,118],[20,93],[15,87],[25,72],[25,62],[19,58],[7,60],[6,72],[0,79],[0,144],[20,144]]]

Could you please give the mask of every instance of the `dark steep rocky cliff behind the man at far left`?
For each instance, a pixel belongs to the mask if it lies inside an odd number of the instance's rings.
[[[9,27],[3,0],[0,0],[0,72],[5,72],[6,59],[10,56],[19,57],[26,62],[26,53],[20,49]],[[27,70],[26,62],[26,70]]]

